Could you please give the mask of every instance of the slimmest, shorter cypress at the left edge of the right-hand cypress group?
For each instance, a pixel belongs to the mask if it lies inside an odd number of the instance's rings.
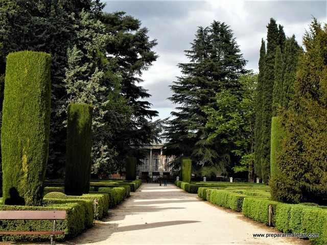
[[[254,173],[262,178],[261,176],[261,164],[262,158],[262,116],[263,116],[263,83],[264,83],[264,72],[265,72],[265,56],[266,56],[266,43],[261,40],[260,48],[260,59],[259,59],[259,75],[258,75],[258,86],[256,87],[256,116],[254,125]]]

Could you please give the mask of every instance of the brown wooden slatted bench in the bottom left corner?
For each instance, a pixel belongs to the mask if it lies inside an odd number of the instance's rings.
[[[50,235],[51,245],[56,244],[56,235],[63,235],[64,231],[56,231],[56,220],[65,219],[66,211],[49,210],[49,211],[25,211],[25,210],[7,210],[0,211],[0,219],[51,219],[53,220],[52,231],[0,231],[0,235]]]

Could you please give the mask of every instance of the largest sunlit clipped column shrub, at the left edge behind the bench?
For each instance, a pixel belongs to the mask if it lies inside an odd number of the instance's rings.
[[[41,205],[49,153],[51,56],[22,51],[6,63],[1,130],[3,197],[9,205]]]

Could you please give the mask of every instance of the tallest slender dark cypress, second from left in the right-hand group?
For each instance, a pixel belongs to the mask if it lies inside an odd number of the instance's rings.
[[[272,117],[272,92],[275,80],[275,54],[279,40],[276,21],[271,18],[267,26],[267,54],[265,57],[265,74],[263,84],[263,121],[262,121],[262,158],[261,176],[265,183],[270,175],[270,128]]]

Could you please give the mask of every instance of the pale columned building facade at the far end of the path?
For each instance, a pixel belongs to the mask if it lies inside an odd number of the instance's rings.
[[[144,145],[142,148],[148,154],[143,159],[139,159],[140,164],[136,168],[136,174],[141,179],[155,180],[159,176],[172,176],[173,172],[169,164],[172,157],[162,154],[164,144]]]

